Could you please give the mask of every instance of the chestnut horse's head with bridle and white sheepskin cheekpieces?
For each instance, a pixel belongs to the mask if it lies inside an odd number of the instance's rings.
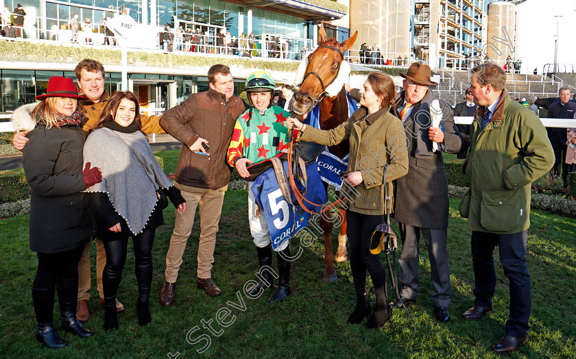
[[[302,59],[298,67],[295,84],[301,84],[294,94],[293,112],[305,114],[325,95],[334,97],[338,94],[350,73],[350,65],[344,61],[344,52],[354,45],[357,36],[358,32],[355,32],[342,43],[334,38],[328,40],[324,25],[320,25],[317,49],[307,59]]]

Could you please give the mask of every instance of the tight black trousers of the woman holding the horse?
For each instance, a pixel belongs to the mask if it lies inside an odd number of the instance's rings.
[[[354,279],[354,290],[362,295],[366,291],[366,271],[370,273],[374,290],[386,286],[386,269],[376,254],[370,253],[370,238],[376,226],[384,223],[384,216],[370,216],[346,211],[346,236],[350,245],[350,270]]]

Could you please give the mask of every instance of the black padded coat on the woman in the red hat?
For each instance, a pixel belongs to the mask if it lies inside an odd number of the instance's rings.
[[[95,234],[88,216],[82,175],[82,126],[40,125],[27,134],[22,160],[32,188],[30,249],[40,253],[69,251]]]

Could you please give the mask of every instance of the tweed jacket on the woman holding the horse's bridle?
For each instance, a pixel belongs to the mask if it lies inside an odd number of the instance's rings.
[[[323,131],[306,126],[300,140],[333,146],[347,138],[350,157],[346,173],[360,171],[363,182],[355,187],[349,209],[352,212],[381,215],[394,209],[392,181],[408,172],[408,153],[402,123],[383,108],[370,116],[361,107],[350,118],[334,129]],[[386,183],[383,183],[386,174]],[[389,210],[385,196],[392,199]]]

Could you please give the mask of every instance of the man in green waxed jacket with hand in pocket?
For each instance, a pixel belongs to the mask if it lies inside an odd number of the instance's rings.
[[[493,311],[496,286],[494,249],[510,282],[510,312],[505,335],[492,347],[503,353],[528,341],[531,284],[526,264],[530,226],[530,186],[554,164],[554,152],[540,119],[510,99],[506,75],[495,64],[472,69],[472,95],[479,108],[470,131],[470,152],[464,172],[470,190],[460,214],[472,230],[474,306],[462,314],[481,319]]]

